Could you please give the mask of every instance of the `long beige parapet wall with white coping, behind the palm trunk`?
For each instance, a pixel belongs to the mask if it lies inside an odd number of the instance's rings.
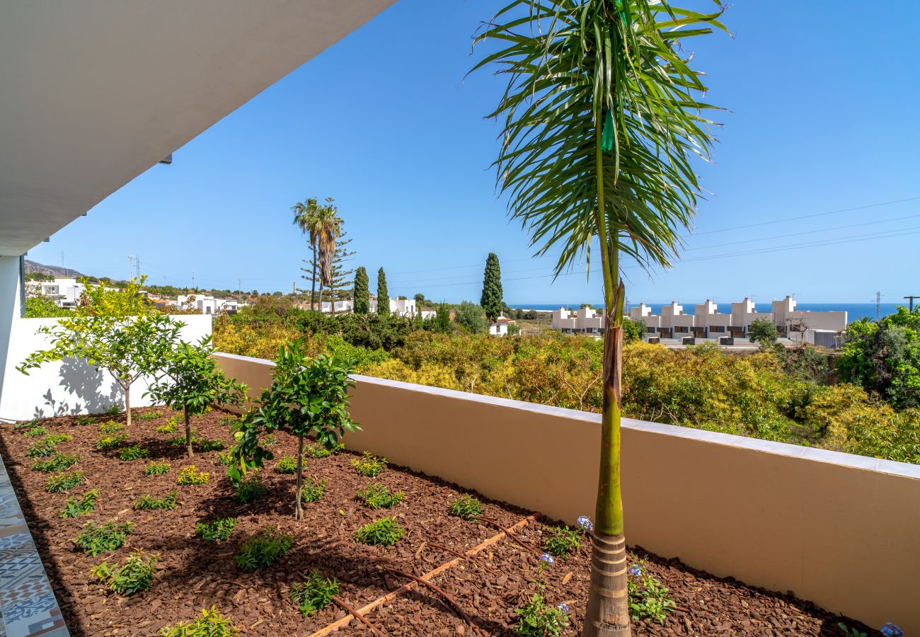
[[[216,354],[250,395],[269,361]],[[346,446],[572,523],[593,515],[600,417],[355,376]],[[920,634],[920,467],[624,421],[627,541]]]

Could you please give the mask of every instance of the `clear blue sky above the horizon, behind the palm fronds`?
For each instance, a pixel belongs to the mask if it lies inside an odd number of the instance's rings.
[[[599,277],[553,282],[496,196],[499,129],[483,116],[502,84],[464,75],[471,34],[500,4],[401,0],[29,259],[61,264],[63,251],[67,267],[124,278],[136,254],[151,283],[195,272],[199,285],[289,291],[307,252],[290,207],[332,196],[355,264],[372,287],[383,266],[391,295],[477,301],[496,252],[512,305],[600,301]],[[714,194],[672,270],[627,271],[632,302],[920,294],[913,15],[907,0],[730,6],[734,38],[694,44],[707,99],[729,109],[715,162],[698,167]]]

